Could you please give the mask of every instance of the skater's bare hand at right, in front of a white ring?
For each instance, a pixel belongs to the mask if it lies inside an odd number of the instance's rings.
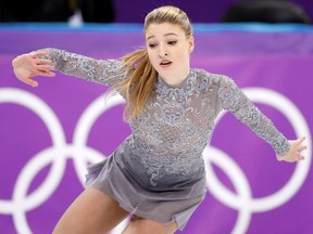
[[[303,160],[304,156],[301,155],[301,152],[306,150],[308,146],[303,145],[303,141],[305,140],[305,136],[299,138],[295,141],[289,141],[290,148],[284,156],[276,156],[277,160],[279,161],[288,161],[288,162],[296,162],[299,160]]]

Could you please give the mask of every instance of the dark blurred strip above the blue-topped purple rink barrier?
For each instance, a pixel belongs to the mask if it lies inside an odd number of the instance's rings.
[[[310,0],[1,0],[0,22],[142,23],[155,6],[174,4],[193,23],[265,21],[309,23]]]

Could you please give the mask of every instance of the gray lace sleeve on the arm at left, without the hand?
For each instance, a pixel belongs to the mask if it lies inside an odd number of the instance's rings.
[[[55,69],[71,76],[113,87],[125,79],[121,61],[96,60],[59,49],[41,49],[48,54],[45,58],[52,60]]]

